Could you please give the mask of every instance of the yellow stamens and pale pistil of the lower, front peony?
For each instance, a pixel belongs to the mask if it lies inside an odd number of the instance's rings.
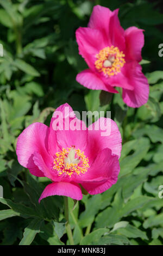
[[[90,167],[88,162],[89,159],[85,157],[84,152],[72,146],[71,148],[63,148],[62,151],[55,153],[53,169],[57,171],[59,176],[65,174],[71,178],[72,174],[86,173]]]

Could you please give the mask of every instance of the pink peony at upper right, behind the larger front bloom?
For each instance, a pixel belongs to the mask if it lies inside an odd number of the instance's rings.
[[[140,107],[148,101],[149,84],[139,62],[144,45],[143,29],[129,27],[125,31],[118,20],[118,9],[96,5],[87,28],[78,28],[76,38],[79,54],[89,66],[76,80],[93,90],[118,93],[122,87],[123,101]]]

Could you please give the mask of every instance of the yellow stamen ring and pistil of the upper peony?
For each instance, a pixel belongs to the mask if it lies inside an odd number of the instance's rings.
[[[103,72],[106,76],[114,76],[121,72],[124,65],[125,54],[118,47],[105,47],[96,54],[95,66],[98,72]]]

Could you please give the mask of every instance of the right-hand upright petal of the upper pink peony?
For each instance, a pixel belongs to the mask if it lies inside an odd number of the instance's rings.
[[[124,36],[126,38],[126,59],[140,62],[142,60],[141,49],[145,44],[143,29],[129,27]]]

